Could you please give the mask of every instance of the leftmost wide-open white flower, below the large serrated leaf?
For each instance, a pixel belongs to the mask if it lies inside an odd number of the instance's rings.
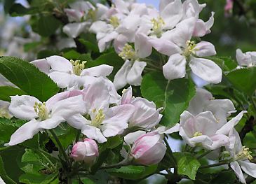
[[[68,95],[67,92],[65,96]],[[9,143],[5,146],[13,146],[22,143],[42,131],[43,129],[54,129],[61,122],[76,114],[83,113],[85,106],[82,95],[62,99],[62,93],[41,102],[35,97],[22,95],[12,96],[9,111],[16,117],[29,120],[11,136]]]

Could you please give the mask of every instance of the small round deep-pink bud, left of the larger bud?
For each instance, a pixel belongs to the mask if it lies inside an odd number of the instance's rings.
[[[97,143],[93,139],[84,139],[83,142],[77,142],[73,148],[71,157],[77,162],[92,164],[99,155]]]

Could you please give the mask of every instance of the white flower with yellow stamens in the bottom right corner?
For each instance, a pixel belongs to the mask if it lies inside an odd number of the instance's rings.
[[[243,171],[253,178],[256,178],[256,164],[250,162],[250,160],[252,160],[252,152],[249,148],[242,146],[239,134],[235,129],[233,129],[230,135],[230,143],[226,148],[230,153],[230,159],[232,161],[230,167],[235,171],[241,183],[246,183]]]

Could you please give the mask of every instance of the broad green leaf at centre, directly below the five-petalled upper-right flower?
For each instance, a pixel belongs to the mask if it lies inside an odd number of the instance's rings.
[[[164,108],[161,125],[173,126],[180,120],[180,114],[187,109],[196,90],[189,79],[166,80],[163,73],[147,73],[141,84],[142,96]]]

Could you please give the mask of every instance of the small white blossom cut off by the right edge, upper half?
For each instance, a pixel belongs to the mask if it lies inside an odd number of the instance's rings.
[[[256,52],[245,52],[236,50],[236,60],[240,66],[252,67],[256,66]]]

